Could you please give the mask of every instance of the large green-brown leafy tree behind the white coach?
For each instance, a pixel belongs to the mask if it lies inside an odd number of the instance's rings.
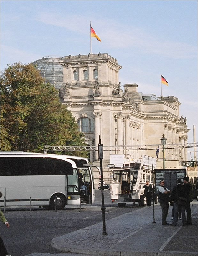
[[[57,89],[45,83],[32,64],[8,65],[1,75],[1,150],[38,152],[44,145],[85,142]],[[73,154],[86,156],[80,151]]]

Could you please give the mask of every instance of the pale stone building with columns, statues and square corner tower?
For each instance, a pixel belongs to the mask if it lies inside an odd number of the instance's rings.
[[[99,135],[103,146],[161,144],[163,134],[167,144],[187,143],[189,129],[186,120],[179,116],[178,99],[140,93],[137,84],[125,84],[122,90],[119,81],[122,66],[107,53],[65,56],[60,65],[63,68],[60,100],[76,118],[88,145],[97,145]],[[110,182],[107,169],[110,154],[126,154],[134,159],[142,154],[156,157],[155,152],[104,151],[104,180]],[[91,151],[90,161],[97,159],[98,153]],[[166,159],[187,161],[187,150],[166,149]],[[96,183],[99,175],[97,179]]]

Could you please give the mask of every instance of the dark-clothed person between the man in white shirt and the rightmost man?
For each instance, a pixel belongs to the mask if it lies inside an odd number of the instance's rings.
[[[174,202],[174,217],[171,226],[177,226],[177,220],[178,220],[178,211],[181,211],[182,214],[182,224],[185,226],[187,224],[186,221],[186,215],[185,215],[185,204],[179,205],[178,204],[178,198],[184,197],[184,187],[182,186],[181,179],[177,180],[177,185],[174,186],[172,190],[171,199]]]

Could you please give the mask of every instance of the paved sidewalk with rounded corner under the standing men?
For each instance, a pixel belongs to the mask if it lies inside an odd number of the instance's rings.
[[[169,223],[172,223],[171,209],[169,207],[167,217]],[[51,245],[61,252],[88,255],[197,255],[197,201],[191,207],[192,226],[182,226],[181,220],[176,227],[161,225],[159,204],[155,205],[156,223],[153,223],[153,206],[142,210],[106,220],[107,235],[102,234],[100,222],[53,238]]]

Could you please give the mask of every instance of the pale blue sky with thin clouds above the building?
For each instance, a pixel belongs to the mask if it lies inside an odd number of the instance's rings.
[[[108,53],[123,66],[119,80],[138,91],[175,96],[197,127],[197,1],[1,1],[1,71],[14,62],[90,52],[90,21]],[[163,132],[162,132],[163,133]],[[159,134],[161,138],[162,134]],[[196,136],[197,141],[197,136]]]

